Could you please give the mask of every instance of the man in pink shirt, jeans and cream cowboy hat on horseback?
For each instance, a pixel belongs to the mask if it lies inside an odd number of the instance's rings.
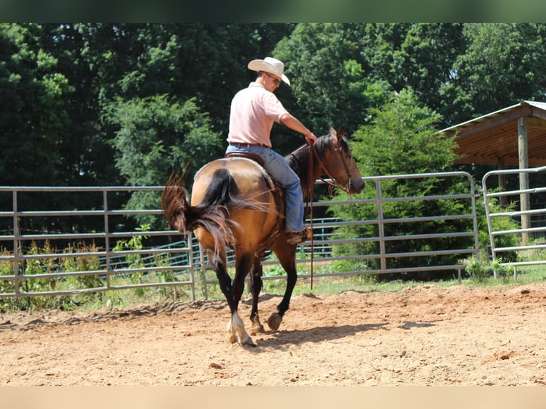
[[[277,122],[302,133],[309,145],[316,143],[316,136],[291,115],[274,95],[281,81],[290,85],[283,73],[284,64],[266,57],[250,61],[248,68],[257,71],[258,76],[232,100],[230,133],[227,136],[230,145],[226,153],[249,152],[262,160],[264,169],[284,188],[287,242],[300,244],[309,238],[304,229],[302,185],[284,157],[272,150],[270,133],[273,122]]]

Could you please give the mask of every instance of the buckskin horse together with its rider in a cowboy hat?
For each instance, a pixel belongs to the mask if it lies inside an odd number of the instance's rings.
[[[263,167],[246,157],[213,160],[195,174],[190,202],[183,189],[184,175],[173,173],[163,190],[161,205],[170,224],[182,233],[192,231],[207,253],[230,306],[227,326],[230,342],[256,346],[237,311],[245,277],[252,276],[252,328],[263,332],[258,301],[262,290],[262,257],[267,249],[272,250],[287,272],[282,301],[267,319],[269,328],[277,331],[289,309],[297,281],[297,245],[310,238],[304,229],[304,194],[309,195],[321,175],[328,176],[349,193],[361,192],[364,181],[344,138],[343,127],[337,132],[330,127],[328,135],[317,139],[279,103],[273,91],[281,81],[289,84],[281,61],[269,57],[254,60],[249,68],[257,71],[258,77],[233,98],[226,156],[251,154],[259,157]],[[274,152],[269,138],[274,121],[305,135],[309,145],[287,157]],[[271,177],[284,187],[286,204]],[[233,279],[227,271],[228,248],[235,253]]]

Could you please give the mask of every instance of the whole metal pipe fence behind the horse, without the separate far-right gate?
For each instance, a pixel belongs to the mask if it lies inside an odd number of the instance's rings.
[[[447,185],[460,185],[453,194],[399,195],[393,186],[434,178]],[[317,278],[363,274],[403,274],[465,269],[464,259],[478,253],[475,188],[466,172],[438,172],[418,175],[364,177],[375,188],[369,198],[348,197],[342,201],[318,200],[315,208],[355,207],[365,217],[341,219],[322,217],[313,222],[313,262]],[[322,182],[317,182],[321,184]],[[160,192],[163,187],[0,187],[0,195],[11,195],[11,209],[0,209],[0,222],[11,226],[0,232],[0,297],[85,294],[96,291],[139,289],[143,287],[187,286],[195,299],[200,285],[205,298],[207,286],[217,284],[207,271],[210,266],[192,234],[182,236],[165,229],[143,231],[126,229],[119,222],[132,217],[163,220],[161,210],[129,209],[118,205],[118,195],[132,192]],[[100,205],[79,209],[25,209],[21,195],[33,192],[47,195],[99,195]],[[159,196],[159,193],[157,193]],[[366,195],[359,195],[364,197]],[[86,202],[86,201],[84,201]],[[125,203],[125,201],[123,201]],[[159,202],[157,202],[159,203]],[[445,205],[450,203],[452,205]],[[403,214],[393,214],[403,209]],[[416,212],[412,214],[412,209]],[[446,213],[446,209],[455,212]],[[361,212],[362,211],[362,212]],[[101,219],[96,231],[31,232],[25,220],[33,218]],[[164,222],[164,220],[163,220]],[[309,220],[307,225],[309,226]],[[134,225],[134,223],[133,223]],[[139,240],[155,242],[147,247]],[[133,245],[130,241],[133,240]],[[40,242],[41,247],[33,247]],[[57,250],[55,243],[59,245]],[[75,242],[85,245],[78,247]],[[158,245],[157,242],[163,242]],[[120,246],[120,243],[123,244]],[[448,262],[446,262],[446,260]],[[453,262],[453,260],[457,260]],[[311,242],[299,246],[299,265],[311,263]],[[264,257],[264,279],[284,279],[274,255]],[[235,266],[230,255],[228,266]],[[309,273],[299,274],[306,278]],[[41,284],[41,285],[37,285]]]

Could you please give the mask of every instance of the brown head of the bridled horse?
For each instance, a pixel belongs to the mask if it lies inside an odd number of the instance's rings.
[[[346,192],[360,193],[364,188],[364,180],[344,138],[344,127],[337,132],[330,127],[329,135],[326,136],[328,143],[321,153],[324,172]]]

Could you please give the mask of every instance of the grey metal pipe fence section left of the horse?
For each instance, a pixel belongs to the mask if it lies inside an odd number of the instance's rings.
[[[189,286],[195,299],[192,237],[156,248],[143,248],[144,237],[172,237],[173,230],[123,231],[119,217],[161,217],[160,209],[112,208],[120,192],[160,192],[163,187],[0,187],[12,195],[12,208],[0,212],[0,220],[11,219],[11,231],[0,234],[0,297],[58,296],[97,291],[138,289],[148,286]],[[89,200],[100,209],[21,210],[21,193],[82,195],[91,192],[100,200]],[[59,204],[62,207],[62,204]],[[33,218],[101,217],[102,228],[94,232],[21,231],[24,220]],[[133,240],[131,244],[130,240]],[[135,241],[136,240],[136,241]],[[35,246],[36,242],[41,243]],[[61,243],[61,251],[55,244]],[[77,243],[81,243],[78,247]],[[83,243],[83,244],[82,244]],[[120,244],[125,244],[121,245]],[[26,249],[26,251],[25,251]],[[183,260],[181,262],[181,260]],[[172,262],[175,261],[175,262]]]

